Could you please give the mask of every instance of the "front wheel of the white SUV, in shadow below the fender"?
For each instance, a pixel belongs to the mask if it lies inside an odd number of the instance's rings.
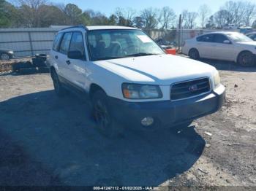
[[[108,138],[116,137],[118,135],[117,122],[112,117],[108,95],[103,90],[97,90],[92,96],[92,109],[99,133]]]

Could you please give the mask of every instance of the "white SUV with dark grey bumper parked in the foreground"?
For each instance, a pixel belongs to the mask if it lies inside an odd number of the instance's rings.
[[[63,29],[50,51],[50,71],[57,95],[86,96],[108,136],[120,122],[147,129],[189,125],[217,112],[225,98],[217,69],[165,54],[137,28]]]

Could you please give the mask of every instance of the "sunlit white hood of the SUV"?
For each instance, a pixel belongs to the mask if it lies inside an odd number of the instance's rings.
[[[199,77],[211,77],[216,69],[206,63],[175,55],[149,55],[96,61],[97,65],[127,82],[170,85]]]

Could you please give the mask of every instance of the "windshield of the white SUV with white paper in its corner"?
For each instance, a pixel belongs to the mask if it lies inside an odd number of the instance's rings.
[[[92,61],[165,54],[140,30],[89,31],[88,41]]]

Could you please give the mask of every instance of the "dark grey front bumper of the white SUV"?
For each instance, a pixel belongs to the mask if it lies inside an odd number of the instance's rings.
[[[125,125],[141,126],[145,117],[153,117],[154,128],[177,125],[217,112],[225,100],[225,87],[219,85],[211,93],[181,101],[127,102],[109,98],[113,117]],[[149,128],[149,127],[148,127]]]

